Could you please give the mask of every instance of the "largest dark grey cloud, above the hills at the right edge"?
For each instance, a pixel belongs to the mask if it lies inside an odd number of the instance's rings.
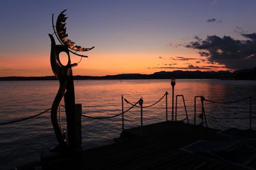
[[[187,48],[200,50],[198,53],[210,63],[225,64],[228,69],[246,69],[255,67],[256,33],[241,34],[246,40],[230,36],[207,36],[203,40],[190,42]]]

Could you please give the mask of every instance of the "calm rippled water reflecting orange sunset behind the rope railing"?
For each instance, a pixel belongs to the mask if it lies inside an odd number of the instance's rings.
[[[0,81],[0,122],[29,117],[51,108],[58,90],[58,81]],[[81,103],[83,113],[97,117],[121,113],[121,95],[131,103],[143,97],[143,106],[158,101],[167,91],[171,94],[170,80],[79,80],[74,82],[76,103]],[[256,81],[177,80],[175,95],[183,94],[189,120],[193,122],[194,97],[204,96],[213,101],[234,101],[256,97]],[[171,118],[171,95],[168,96],[168,117]],[[199,103],[199,101],[198,101]],[[205,102],[205,112],[210,127],[248,128],[249,100],[232,104]],[[185,118],[184,107],[178,100],[178,119]],[[124,109],[130,108],[125,103]],[[200,104],[198,104],[200,113]],[[165,98],[151,108],[143,110],[143,124],[165,120]],[[256,127],[256,101],[252,101],[253,127]],[[62,114],[63,128],[65,113]],[[198,122],[199,123],[199,122]],[[125,113],[125,128],[140,125],[140,108]],[[112,143],[122,131],[121,117],[110,120],[92,120],[82,117],[83,148]],[[175,129],[173,129],[175,130]],[[24,122],[0,126],[0,169],[40,159],[40,152],[56,146],[56,138],[47,112]]]

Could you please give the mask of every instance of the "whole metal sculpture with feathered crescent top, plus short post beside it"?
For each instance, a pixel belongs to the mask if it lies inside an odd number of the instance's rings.
[[[66,10],[62,11],[56,20],[54,26],[54,15],[52,14],[52,27],[56,38],[60,41],[61,45],[56,45],[54,37],[49,34],[51,38],[51,67],[52,72],[60,81],[60,87],[56,97],[52,103],[51,121],[54,132],[56,134],[59,145],[54,148],[53,152],[63,152],[66,150],[77,150],[81,148],[81,105],[76,105],[74,94],[74,82],[72,75],[72,67],[77,66],[77,63],[71,63],[69,52],[74,53],[80,57],[87,57],[77,52],[85,52],[92,50],[92,48],[83,48],[81,46],[74,45],[75,43],[70,39],[67,39],[65,21]],[[56,29],[55,29],[56,27]],[[75,51],[75,52],[74,52]],[[67,65],[61,64],[60,53],[65,52],[68,56]],[[67,136],[68,141],[65,140],[64,134],[61,134],[61,129],[58,125],[57,112],[60,106],[61,100],[64,97],[65,112],[67,117]]]

